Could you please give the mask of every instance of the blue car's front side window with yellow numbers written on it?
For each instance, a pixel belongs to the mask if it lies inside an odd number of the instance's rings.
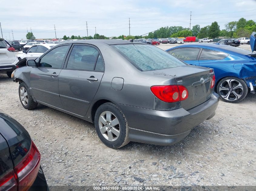
[[[196,60],[199,51],[199,48],[177,48],[169,50],[168,53],[181,60]]]

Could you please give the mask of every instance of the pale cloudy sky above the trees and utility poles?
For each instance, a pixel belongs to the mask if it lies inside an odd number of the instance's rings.
[[[229,21],[256,21],[255,0],[26,0],[1,2],[0,22],[3,37],[12,40],[25,39],[27,28],[36,38],[57,38],[64,35],[93,36],[96,31],[107,37],[128,35],[129,19],[131,35],[142,35],[160,27],[200,27],[217,21],[221,29]],[[1,35],[1,34],[0,34]],[[2,35],[1,35],[2,36]]]

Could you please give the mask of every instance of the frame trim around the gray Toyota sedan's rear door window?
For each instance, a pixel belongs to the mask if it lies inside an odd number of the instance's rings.
[[[98,56],[97,56],[97,59],[96,59],[96,61],[95,61],[95,63],[94,63],[94,68],[93,68],[93,70],[70,69],[70,68],[67,68],[69,56],[70,56],[71,51],[72,51],[72,49],[73,49],[73,47],[74,47],[75,45],[79,45],[79,46],[91,46],[91,47],[95,48],[95,49],[98,51]],[[102,59],[102,62],[103,62],[103,71],[95,70],[96,63],[97,63],[97,60],[98,60],[99,55],[101,56],[101,59]],[[98,49],[97,46],[94,46],[94,45],[91,45],[91,44],[72,43],[71,48],[70,48],[70,50],[68,51],[68,55],[67,55],[66,60],[65,60],[63,70],[78,70],[78,71],[89,71],[89,72],[105,72],[105,62],[104,62],[103,56],[102,56],[102,54],[101,54],[101,52],[100,52],[100,50]]]

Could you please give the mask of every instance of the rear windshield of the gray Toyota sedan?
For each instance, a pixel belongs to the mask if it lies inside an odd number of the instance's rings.
[[[155,46],[146,44],[118,44],[114,46],[141,71],[160,70],[186,65],[184,62]]]

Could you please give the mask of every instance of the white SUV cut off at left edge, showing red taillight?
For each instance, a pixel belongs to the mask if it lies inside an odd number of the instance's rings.
[[[0,38],[0,73],[4,72],[11,78],[18,61],[15,49],[5,39]]]

